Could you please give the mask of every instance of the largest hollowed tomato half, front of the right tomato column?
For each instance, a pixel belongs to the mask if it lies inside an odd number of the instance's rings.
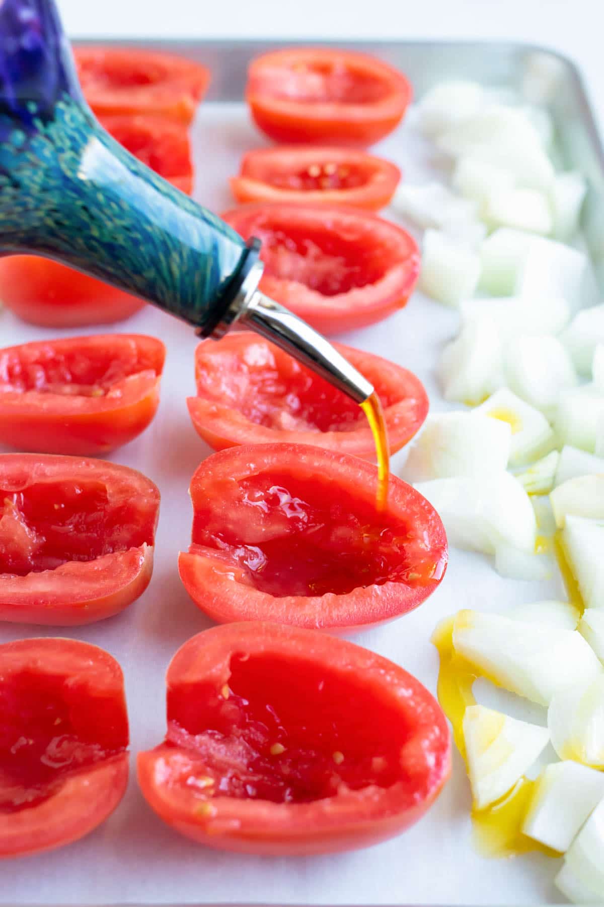
[[[273,623],[189,639],[168,668],[168,733],[139,753],[149,805],[224,850],[331,853],[403,831],[450,771],[441,708],[403,668]]]

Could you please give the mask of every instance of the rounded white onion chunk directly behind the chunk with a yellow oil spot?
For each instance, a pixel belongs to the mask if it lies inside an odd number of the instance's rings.
[[[560,340],[553,336],[519,336],[504,353],[507,385],[514,394],[552,419],[561,391],[577,385],[577,374]]]

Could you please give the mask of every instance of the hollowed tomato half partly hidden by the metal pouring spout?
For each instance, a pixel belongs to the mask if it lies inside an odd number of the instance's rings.
[[[369,378],[384,407],[390,451],[416,434],[427,415],[424,386],[406,368],[334,344]],[[242,332],[197,346],[197,397],[187,399],[198,434],[222,450],[287,441],[375,456],[369,424],[350,397],[262,337]],[[1,403],[1,397],[0,397]]]

